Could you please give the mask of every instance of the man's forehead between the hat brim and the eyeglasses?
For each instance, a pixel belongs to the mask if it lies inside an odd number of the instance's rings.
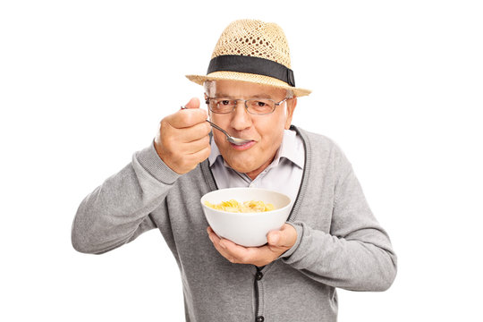
[[[273,99],[283,99],[288,94],[286,89],[240,80],[205,81],[205,93],[208,97],[266,97]]]

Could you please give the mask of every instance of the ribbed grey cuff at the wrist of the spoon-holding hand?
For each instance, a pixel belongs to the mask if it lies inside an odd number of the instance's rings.
[[[137,152],[135,157],[140,165],[160,182],[172,184],[182,175],[175,173],[169,166],[165,165],[161,157],[157,155],[154,141],[148,148]]]

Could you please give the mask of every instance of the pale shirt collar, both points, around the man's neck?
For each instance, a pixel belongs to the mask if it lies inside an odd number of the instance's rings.
[[[284,138],[282,139],[282,144],[280,148],[276,151],[274,161],[272,162],[270,167],[278,165],[282,157],[290,160],[294,165],[303,168],[304,163],[304,151],[301,145],[297,144],[296,139],[296,132],[292,130],[284,130]],[[302,149],[301,149],[302,148]],[[217,159],[220,158],[225,166],[229,166],[226,164],[220,150],[216,146],[215,140],[213,137],[211,138],[211,153],[208,157],[209,166],[215,165]]]

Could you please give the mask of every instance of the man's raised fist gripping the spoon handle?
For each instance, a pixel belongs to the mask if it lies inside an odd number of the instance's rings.
[[[196,97],[186,107],[161,121],[155,139],[157,155],[177,174],[190,172],[211,152],[207,111],[199,108]]]

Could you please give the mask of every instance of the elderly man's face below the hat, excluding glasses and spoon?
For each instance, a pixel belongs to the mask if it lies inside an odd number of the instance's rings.
[[[243,81],[217,80],[216,89],[210,94],[211,97],[270,98],[280,102],[286,96],[286,90]],[[276,106],[272,114],[249,114],[243,102],[237,103],[231,114],[210,112],[211,121],[225,129],[231,136],[252,140],[250,143],[236,146],[228,142],[221,131],[214,130],[216,146],[225,162],[234,170],[248,174],[251,179],[254,179],[274,159],[276,150],[282,143],[284,129],[288,129],[292,123],[296,103],[296,98],[289,99],[286,103]]]

